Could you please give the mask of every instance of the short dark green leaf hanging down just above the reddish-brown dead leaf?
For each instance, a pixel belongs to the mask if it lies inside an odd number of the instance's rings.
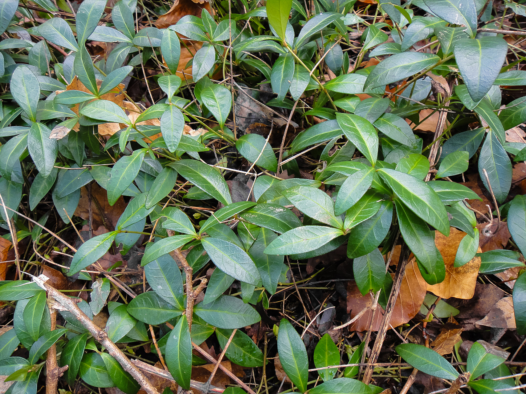
[[[386,262],[381,252],[374,249],[353,260],[352,272],[362,295],[366,295],[371,290],[376,293],[382,287],[383,279],[386,277]]]

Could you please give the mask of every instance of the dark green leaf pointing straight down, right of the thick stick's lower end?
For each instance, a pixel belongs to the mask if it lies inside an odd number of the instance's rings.
[[[178,385],[189,390],[192,343],[188,330],[188,320],[185,315],[181,316],[169,335],[166,343],[166,365]]]

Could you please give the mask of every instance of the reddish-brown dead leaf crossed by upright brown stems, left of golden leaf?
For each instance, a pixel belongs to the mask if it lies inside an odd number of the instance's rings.
[[[420,306],[426,296],[426,281],[422,278],[417,262],[413,257],[406,267],[406,272],[403,275],[402,284],[400,286],[400,293],[395,302],[391,321],[391,326],[398,327],[409,322],[420,311]],[[350,312],[351,319],[358,315],[363,309],[370,308],[373,304],[373,299],[370,294],[362,296],[358,290],[358,286],[354,281],[349,281],[347,286],[347,313]],[[368,309],[366,312],[356,320],[350,327],[351,331],[367,331],[371,328],[373,331],[378,331],[383,313],[385,312],[381,306],[377,306],[380,313],[376,313],[374,320],[370,323],[372,318],[372,310]]]

